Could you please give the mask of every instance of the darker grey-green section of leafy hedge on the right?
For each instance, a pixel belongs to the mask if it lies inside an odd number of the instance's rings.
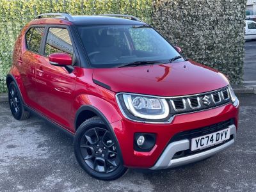
[[[220,70],[232,84],[242,84],[245,4],[245,0],[156,0],[152,22],[188,58]]]

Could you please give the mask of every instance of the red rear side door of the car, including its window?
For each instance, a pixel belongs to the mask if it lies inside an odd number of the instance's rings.
[[[26,51],[22,52],[19,58],[20,76],[24,84],[28,99],[26,103],[36,108],[36,65],[42,62],[40,55],[42,38],[44,36],[44,26],[35,26],[28,29],[25,35]]]

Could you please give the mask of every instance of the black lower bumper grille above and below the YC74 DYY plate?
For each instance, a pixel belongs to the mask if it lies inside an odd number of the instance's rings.
[[[234,119],[226,120],[225,122],[220,122],[218,124],[209,125],[209,126],[202,127],[202,128],[199,128],[199,129],[193,129],[193,130],[189,130],[189,131],[179,132],[178,134],[175,134],[175,136],[173,136],[173,138],[169,141],[169,143],[172,143],[174,141],[180,141],[180,140],[189,140],[189,141],[191,141],[191,139],[193,139],[193,138],[197,138],[197,137],[200,137],[200,136],[211,134],[212,132],[217,132],[217,131],[221,131],[223,129],[227,129],[227,127],[229,125],[232,125],[232,124],[234,124]],[[191,156],[193,154],[197,154],[198,152],[203,152],[205,150],[209,150],[211,148],[218,147],[218,146],[223,145],[224,143],[226,143],[226,142],[228,142],[232,139],[233,139],[233,137],[230,136],[229,140],[224,141],[223,143],[220,143],[218,145],[214,145],[212,147],[205,148],[203,150],[191,151],[190,149],[188,149],[188,150],[183,150],[183,151],[177,152],[173,156],[173,159],[177,159],[177,158],[180,158],[180,157]]]

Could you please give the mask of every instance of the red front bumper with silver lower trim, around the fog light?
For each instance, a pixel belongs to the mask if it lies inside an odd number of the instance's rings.
[[[234,106],[230,103],[205,111],[177,115],[170,124],[147,124],[132,122],[131,120],[123,118],[122,120],[113,122],[111,127],[120,145],[124,166],[129,168],[161,169],[204,159],[234,143],[233,138],[233,140],[227,141],[220,146],[217,145],[214,148],[208,148],[208,150],[202,151],[201,154],[191,154],[190,157],[184,156],[172,159],[175,154],[174,151],[172,152],[174,142],[177,148],[184,150],[189,149],[189,139],[180,138],[179,140],[173,141],[172,139],[175,138],[175,135],[184,131],[201,129],[200,127],[207,127],[230,119],[233,120],[232,124],[234,124],[235,127],[232,128],[232,130],[237,129],[238,113],[239,104]],[[138,152],[134,150],[134,134],[136,132],[156,134],[156,145],[152,150],[149,152]],[[236,136],[236,131],[232,131],[232,134]],[[162,159],[165,160],[163,161]]]

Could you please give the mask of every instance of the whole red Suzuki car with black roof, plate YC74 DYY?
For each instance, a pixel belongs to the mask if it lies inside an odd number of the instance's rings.
[[[38,15],[17,38],[6,84],[14,118],[34,112],[72,134],[97,179],[200,161],[236,138],[227,78],[131,15]]]

